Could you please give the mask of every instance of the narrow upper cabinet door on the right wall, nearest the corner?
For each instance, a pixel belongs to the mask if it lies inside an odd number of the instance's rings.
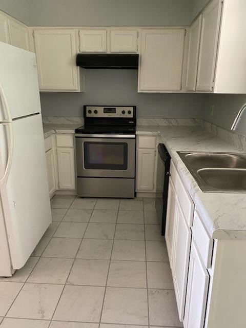
[[[196,90],[198,56],[201,35],[201,15],[195,20],[190,27],[189,50],[188,50],[188,63],[187,63],[187,78],[186,90]]]

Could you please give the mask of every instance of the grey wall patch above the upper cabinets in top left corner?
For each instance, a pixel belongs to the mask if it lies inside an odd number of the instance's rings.
[[[29,24],[28,0],[0,0],[0,10],[26,25]]]

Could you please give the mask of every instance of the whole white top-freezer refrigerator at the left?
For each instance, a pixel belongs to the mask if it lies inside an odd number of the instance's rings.
[[[0,277],[32,254],[51,223],[35,54],[0,42]]]

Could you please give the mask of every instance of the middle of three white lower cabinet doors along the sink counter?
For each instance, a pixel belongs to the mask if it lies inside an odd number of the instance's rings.
[[[176,219],[173,233],[172,275],[179,320],[183,321],[185,309],[188,265],[191,248],[191,229],[183,216],[179,201],[176,201]]]

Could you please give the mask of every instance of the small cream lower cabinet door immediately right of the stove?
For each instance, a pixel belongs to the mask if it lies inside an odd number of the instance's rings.
[[[154,191],[155,160],[156,151],[154,149],[138,149],[137,190]]]

